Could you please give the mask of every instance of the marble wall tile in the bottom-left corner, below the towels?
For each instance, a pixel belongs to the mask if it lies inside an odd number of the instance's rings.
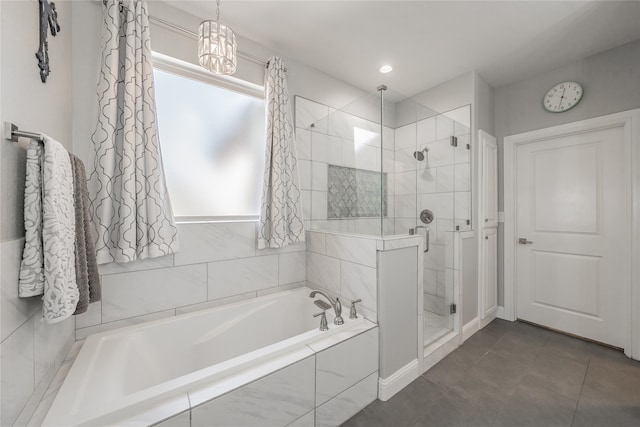
[[[34,330],[30,319],[0,345],[0,425],[12,426],[35,390]]]

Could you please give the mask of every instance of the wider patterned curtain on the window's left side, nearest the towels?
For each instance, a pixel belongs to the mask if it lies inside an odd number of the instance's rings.
[[[99,264],[178,250],[156,123],[147,4],[105,0],[89,209]]]

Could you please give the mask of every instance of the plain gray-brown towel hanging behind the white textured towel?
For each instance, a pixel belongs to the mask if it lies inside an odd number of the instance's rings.
[[[89,304],[100,301],[102,289],[96,248],[91,235],[89,217],[89,193],[87,191],[87,175],[82,160],[69,153],[73,172],[73,199],[76,217],[76,283],[79,299],[74,315],[87,311]]]

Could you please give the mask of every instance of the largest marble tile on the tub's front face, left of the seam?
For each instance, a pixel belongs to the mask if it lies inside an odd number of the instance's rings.
[[[315,406],[314,367],[315,358],[308,357],[196,406],[191,410],[191,426],[284,426],[292,423]]]

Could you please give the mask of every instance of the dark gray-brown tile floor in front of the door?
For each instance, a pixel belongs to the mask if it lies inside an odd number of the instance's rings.
[[[494,320],[387,402],[344,427],[640,426],[640,362]]]

